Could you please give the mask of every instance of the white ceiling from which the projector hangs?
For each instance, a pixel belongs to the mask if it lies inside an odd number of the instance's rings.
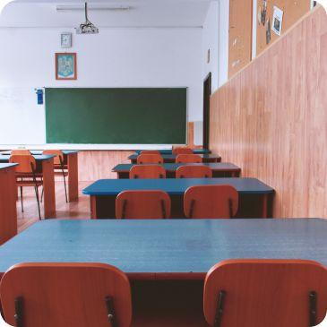
[[[212,0],[90,0],[89,19],[97,27],[202,27]],[[215,0],[213,0],[215,1]],[[57,11],[57,5],[81,10]],[[81,0],[14,0],[4,7],[0,27],[73,28],[84,22]],[[130,6],[128,11],[108,7]],[[101,10],[95,10],[96,8]],[[93,9],[92,9],[93,8]],[[106,10],[107,8],[107,10]]]

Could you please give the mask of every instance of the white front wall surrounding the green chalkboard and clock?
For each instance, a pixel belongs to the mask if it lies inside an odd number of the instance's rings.
[[[42,144],[40,87],[188,87],[189,121],[202,120],[202,29],[108,29],[73,34],[78,80],[56,81],[58,28],[0,28],[0,144]]]

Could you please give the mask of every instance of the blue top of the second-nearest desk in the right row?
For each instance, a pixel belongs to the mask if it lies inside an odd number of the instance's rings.
[[[99,179],[83,189],[87,195],[116,195],[126,190],[163,190],[184,194],[193,185],[233,185],[240,194],[272,194],[274,190],[256,178]]]

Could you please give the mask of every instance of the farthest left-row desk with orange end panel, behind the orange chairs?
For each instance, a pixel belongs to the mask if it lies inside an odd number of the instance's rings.
[[[33,156],[42,155],[43,151],[30,150]],[[78,152],[75,150],[63,150],[64,165],[68,169],[68,200],[78,201]],[[2,151],[1,154],[10,155],[11,151]]]

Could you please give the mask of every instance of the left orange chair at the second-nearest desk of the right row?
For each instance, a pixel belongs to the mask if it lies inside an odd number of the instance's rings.
[[[116,197],[116,219],[166,219],[170,198],[163,191],[124,191]]]

